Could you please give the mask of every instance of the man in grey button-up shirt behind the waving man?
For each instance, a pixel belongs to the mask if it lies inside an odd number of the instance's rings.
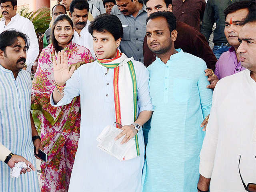
[[[112,15],[116,15],[122,22],[124,37],[119,46],[127,57],[143,62],[143,40],[146,34],[146,6],[138,0],[116,0],[112,8]]]

